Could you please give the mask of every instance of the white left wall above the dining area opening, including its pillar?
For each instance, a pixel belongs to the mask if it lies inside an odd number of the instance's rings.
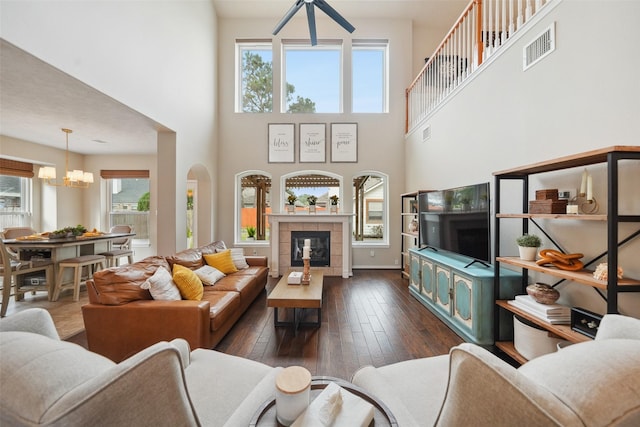
[[[198,164],[217,175],[211,2],[3,0],[1,8],[2,38],[175,132],[158,138],[159,154],[171,159],[158,173],[175,176],[171,191],[152,188],[158,220],[172,231],[153,244],[161,254],[185,248],[187,173]],[[175,144],[164,147],[167,140]],[[95,205],[85,207],[95,217]],[[213,239],[213,218],[208,229]]]

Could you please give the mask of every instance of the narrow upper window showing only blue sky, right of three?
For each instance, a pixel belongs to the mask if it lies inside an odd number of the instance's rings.
[[[351,104],[354,113],[388,112],[387,46],[386,40],[353,42]]]

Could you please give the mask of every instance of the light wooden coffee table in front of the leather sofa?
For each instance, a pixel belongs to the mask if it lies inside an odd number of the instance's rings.
[[[287,283],[288,277],[288,273],[282,276],[267,297],[267,307],[274,308],[274,326],[293,325],[296,333],[299,326],[315,326],[319,328],[322,323],[322,272],[311,270],[311,281],[308,285],[290,285]],[[278,317],[279,308],[293,309],[293,321],[280,321]],[[304,312],[307,309],[317,310],[317,322],[302,322]]]

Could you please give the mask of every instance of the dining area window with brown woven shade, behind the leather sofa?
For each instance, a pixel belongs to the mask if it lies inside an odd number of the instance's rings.
[[[102,170],[107,179],[109,228],[130,225],[136,234],[133,245],[149,245],[149,171]]]

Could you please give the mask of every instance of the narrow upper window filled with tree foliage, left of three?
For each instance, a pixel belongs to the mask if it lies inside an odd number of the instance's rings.
[[[271,43],[236,44],[236,112],[273,111],[273,66]]]

